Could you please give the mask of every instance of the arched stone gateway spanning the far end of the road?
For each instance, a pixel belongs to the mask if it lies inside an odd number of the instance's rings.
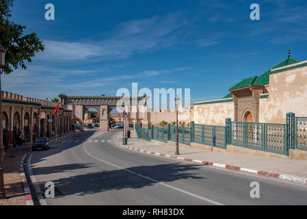
[[[66,96],[61,94],[59,98],[64,109],[72,110],[73,116],[79,118],[79,120],[85,120],[84,114],[88,109],[96,109],[100,115],[101,131],[109,131],[109,114],[118,105],[121,105],[122,109],[124,108],[125,112],[127,112],[129,123],[134,124],[136,121],[141,120],[142,126],[148,127],[148,97],[146,96],[123,98],[120,96]]]

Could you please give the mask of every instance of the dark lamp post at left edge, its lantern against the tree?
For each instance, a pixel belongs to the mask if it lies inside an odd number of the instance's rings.
[[[0,126],[0,198],[5,198],[4,190],[4,146],[3,146],[3,127],[2,127],[2,90],[1,90],[1,68],[4,67],[6,49],[0,45],[0,113],[1,113],[1,126]]]

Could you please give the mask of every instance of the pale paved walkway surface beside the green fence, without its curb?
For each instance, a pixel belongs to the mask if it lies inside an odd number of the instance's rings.
[[[164,155],[175,154],[174,146],[161,146],[152,144],[151,142],[138,142],[135,131],[131,131],[131,139],[129,139],[127,146],[144,151],[162,153]],[[183,148],[179,148],[179,153],[180,157],[187,159],[239,166],[241,168],[248,168],[253,170],[263,170],[266,172],[278,173],[280,175],[291,175],[295,177],[307,178],[307,162],[304,161],[294,161],[269,157],[255,157],[252,155],[218,153]]]

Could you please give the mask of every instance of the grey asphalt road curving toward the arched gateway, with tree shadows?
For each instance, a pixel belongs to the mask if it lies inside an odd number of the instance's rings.
[[[307,205],[307,187],[135,153],[116,146],[121,131],[95,129],[35,151],[31,170],[48,205]],[[260,185],[251,198],[250,183]]]

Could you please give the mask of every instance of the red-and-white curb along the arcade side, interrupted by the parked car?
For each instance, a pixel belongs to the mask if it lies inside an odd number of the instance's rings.
[[[71,133],[67,136],[57,138],[55,140],[50,141],[50,143],[57,142],[58,140],[62,140],[63,138],[73,136],[77,133],[78,132],[75,132],[75,133]],[[21,181],[23,183],[23,191],[24,191],[24,195],[25,195],[25,202],[26,202],[27,205],[34,205],[33,198],[32,198],[32,195],[31,195],[31,191],[30,191],[30,188],[29,188],[29,182],[27,181],[27,177],[25,176],[25,165],[26,165],[25,160],[27,159],[28,155],[31,152],[32,152],[32,149],[30,149],[28,153],[25,153],[25,155],[23,155],[23,158],[21,158],[21,162],[20,162],[20,165],[19,165],[20,171],[21,171]]]

